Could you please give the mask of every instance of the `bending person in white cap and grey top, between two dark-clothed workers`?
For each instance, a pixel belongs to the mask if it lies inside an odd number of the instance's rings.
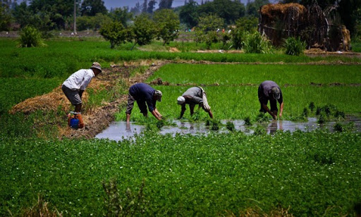
[[[195,105],[198,104],[198,109],[202,107],[204,111],[208,112],[209,117],[213,118],[211,107],[209,106],[207,101],[206,92],[204,92],[204,89],[202,87],[190,87],[190,89],[187,89],[187,91],[184,92],[181,97],[178,97],[177,101],[178,104],[182,106],[181,116],[179,118],[182,118],[184,115],[185,104],[189,104],[190,116],[193,115]]]

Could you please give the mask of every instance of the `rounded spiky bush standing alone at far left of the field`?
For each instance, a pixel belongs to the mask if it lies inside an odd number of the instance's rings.
[[[20,32],[20,47],[45,46],[42,35],[35,27],[24,27]]]

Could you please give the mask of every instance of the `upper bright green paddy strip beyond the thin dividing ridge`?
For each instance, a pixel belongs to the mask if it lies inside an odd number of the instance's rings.
[[[283,86],[331,83],[361,83],[361,66],[322,65],[195,65],[168,64],[149,77],[152,81],[161,77],[172,84],[195,83],[197,85],[259,85],[264,80],[274,80]]]

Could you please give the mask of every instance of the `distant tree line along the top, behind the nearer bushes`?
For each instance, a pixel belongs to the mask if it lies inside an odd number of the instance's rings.
[[[350,30],[351,35],[361,35],[361,1],[360,0],[281,0],[281,3],[298,3],[310,6],[315,2],[322,9],[337,6],[341,23]],[[114,21],[124,27],[135,18],[146,14],[151,17],[157,11],[169,9],[178,16],[181,26],[192,28],[199,25],[202,18],[213,15],[224,20],[224,27],[235,25],[243,17],[259,16],[259,7],[269,4],[269,0],[185,0],[183,6],[172,8],[173,0],[142,0],[134,7],[111,8],[107,10],[102,0],[29,0],[17,4],[15,0],[0,0],[0,30],[19,30],[32,25],[42,32],[51,30],[73,30],[74,15],[77,30],[99,30],[100,27]],[[75,8],[75,13],[74,13]]]

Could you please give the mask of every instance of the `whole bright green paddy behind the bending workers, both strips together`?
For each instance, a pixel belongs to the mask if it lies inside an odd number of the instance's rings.
[[[171,85],[154,86],[164,93],[157,107],[169,118],[178,118],[181,107],[176,99],[192,84],[204,87],[216,118],[243,119],[255,118],[259,113],[258,85],[264,80],[274,80],[283,91],[283,119],[287,120],[299,116],[310,102],[316,106],[332,104],[357,116],[361,106],[360,69],[360,66],[322,65],[168,64],[147,81],[160,77]],[[141,120],[142,115],[137,111],[135,109],[133,119]],[[207,118],[207,114],[201,113],[201,117]],[[189,112],[185,118],[190,118]],[[118,119],[125,120],[125,115],[121,113]]]

